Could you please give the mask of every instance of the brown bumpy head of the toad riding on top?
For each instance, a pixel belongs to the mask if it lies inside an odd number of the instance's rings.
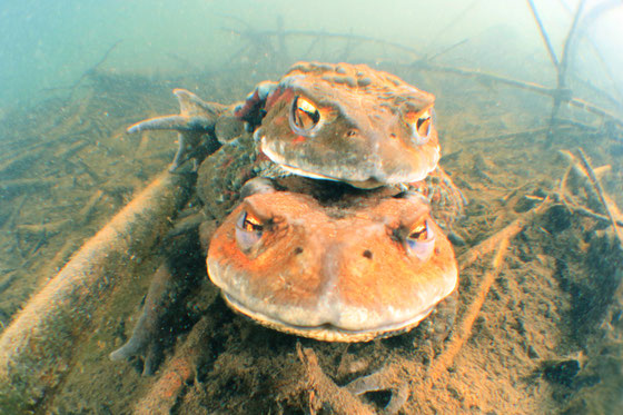
[[[301,99],[317,111],[310,128],[297,126]],[[435,169],[434,101],[366,65],[299,62],[279,82],[260,83],[235,113],[253,122],[265,112],[256,130],[260,150],[286,171],[373,188],[422,180]]]

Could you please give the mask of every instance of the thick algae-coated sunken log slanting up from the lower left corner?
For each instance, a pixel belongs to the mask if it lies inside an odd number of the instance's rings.
[[[0,336],[0,407],[24,413],[53,395],[76,346],[132,261],[150,255],[188,195],[188,175],[160,174],[37,293]]]

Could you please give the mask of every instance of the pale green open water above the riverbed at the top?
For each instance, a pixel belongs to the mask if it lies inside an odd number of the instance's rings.
[[[589,1],[587,7],[601,3]],[[575,2],[542,0],[537,8],[560,50]],[[57,91],[49,89],[72,85],[119,40],[106,61],[110,70],[149,75],[219,68],[241,45],[228,29],[245,30],[246,22],[255,30],[275,30],[278,17],[286,30],[363,34],[423,53],[468,39],[453,52],[456,61],[546,85],[555,81],[530,9],[521,0],[2,1],[0,106],[46,98]],[[587,28],[610,72],[617,75],[623,73],[620,21],[621,7]],[[495,50],[474,53],[469,43],[482,47],[483,41]],[[602,63],[586,42],[581,48],[589,49],[575,62],[578,73],[601,83]],[[305,49],[294,51],[293,59]],[[534,65],[523,65],[526,59]],[[617,82],[621,89],[621,79]]]

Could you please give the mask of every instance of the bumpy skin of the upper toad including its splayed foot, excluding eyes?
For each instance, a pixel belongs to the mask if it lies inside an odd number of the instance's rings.
[[[229,214],[245,181],[257,176],[307,172],[369,188],[422,178],[435,169],[439,157],[434,123],[417,134],[414,130],[423,115],[431,113],[434,97],[366,66],[297,63],[279,82],[260,83],[239,106],[205,102],[180,89],[174,93],[179,115],[137,122],[128,132],[178,132],[179,149],[170,170],[186,160],[194,161],[198,168],[197,192],[208,219],[220,220]],[[313,134],[303,136],[293,129],[294,97],[306,97],[317,107],[320,118]],[[250,128],[245,130],[245,123]],[[264,142],[273,160],[263,151]],[[446,180],[441,170],[435,172]],[[452,182],[418,187],[442,190],[441,197],[438,192],[428,195],[435,215],[443,209],[452,220],[461,211],[462,195]],[[167,293],[154,295],[154,304],[168,304],[166,296],[170,297]],[[146,307],[149,315],[141,320],[150,323],[137,326],[135,335],[142,334],[140,338],[132,337],[132,346],[116,356],[127,358],[150,349],[149,342],[158,338],[161,327],[161,317],[155,310],[166,307]],[[152,366],[146,363],[146,367]]]

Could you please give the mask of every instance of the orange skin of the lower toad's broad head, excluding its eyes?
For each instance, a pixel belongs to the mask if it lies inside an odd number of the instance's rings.
[[[251,248],[240,243],[245,215],[263,224]],[[424,256],[406,240],[422,224],[433,244]],[[234,309],[330,342],[411,329],[457,284],[452,246],[416,194],[379,198],[368,191],[326,205],[289,191],[255,194],[217,229],[207,263]]]

